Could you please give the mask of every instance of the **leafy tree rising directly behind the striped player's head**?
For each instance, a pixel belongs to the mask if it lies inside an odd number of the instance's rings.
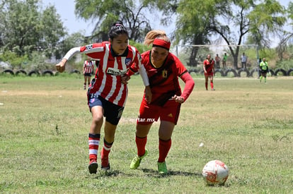
[[[75,13],[85,20],[96,21],[93,37],[96,41],[108,40],[108,31],[116,20],[122,20],[129,30],[130,40],[143,41],[151,30],[149,20],[143,14],[147,1],[133,0],[76,0]]]

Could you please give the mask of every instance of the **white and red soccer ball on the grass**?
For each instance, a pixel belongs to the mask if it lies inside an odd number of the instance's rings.
[[[229,168],[224,162],[212,160],[205,164],[202,176],[209,186],[224,185],[229,176]]]

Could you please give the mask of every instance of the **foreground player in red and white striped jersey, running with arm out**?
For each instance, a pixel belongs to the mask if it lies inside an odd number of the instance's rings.
[[[67,61],[77,53],[83,53],[99,61],[95,79],[88,88],[88,107],[93,116],[88,134],[89,165],[91,174],[96,174],[97,155],[100,144],[100,128],[105,116],[104,145],[100,152],[101,169],[110,169],[108,155],[114,143],[115,130],[127,99],[127,85],[122,83],[129,68],[139,71],[145,85],[145,95],[151,100],[149,78],[140,61],[135,47],[128,45],[128,32],[121,22],[115,23],[108,32],[109,42],[89,44],[70,49],[62,61],[56,65],[63,72]]]

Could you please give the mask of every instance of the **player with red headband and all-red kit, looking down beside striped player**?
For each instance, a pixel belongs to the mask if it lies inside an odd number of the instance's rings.
[[[160,118],[158,171],[160,174],[166,174],[165,160],[171,148],[171,135],[178,121],[180,106],[188,99],[195,83],[183,63],[169,52],[171,42],[166,32],[151,30],[147,33],[144,44],[152,44],[151,50],[142,54],[142,64],[149,76],[152,98],[151,102],[147,102],[144,95],[139,108],[135,138],[137,156],[132,160],[130,168],[137,169],[148,154],[145,149],[147,135],[152,123]],[[127,75],[134,72],[135,70],[130,68]],[[183,92],[178,77],[185,83]]]

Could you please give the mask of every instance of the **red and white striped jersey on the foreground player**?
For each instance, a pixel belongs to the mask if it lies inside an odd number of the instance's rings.
[[[64,59],[70,59],[79,52],[90,56],[93,60],[100,61],[96,68],[95,82],[89,89],[89,95],[100,95],[109,102],[124,107],[128,89],[127,85],[121,82],[121,76],[127,73],[130,66],[136,71],[144,69],[139,51],[128,45],[125,53],[118,56],[111,49],[110,42],[100,42],[70,49]],[[146,75],[146,73],[144,74]],[[149,85],[147,75],[146,80],[144,80],[144,85]]]

